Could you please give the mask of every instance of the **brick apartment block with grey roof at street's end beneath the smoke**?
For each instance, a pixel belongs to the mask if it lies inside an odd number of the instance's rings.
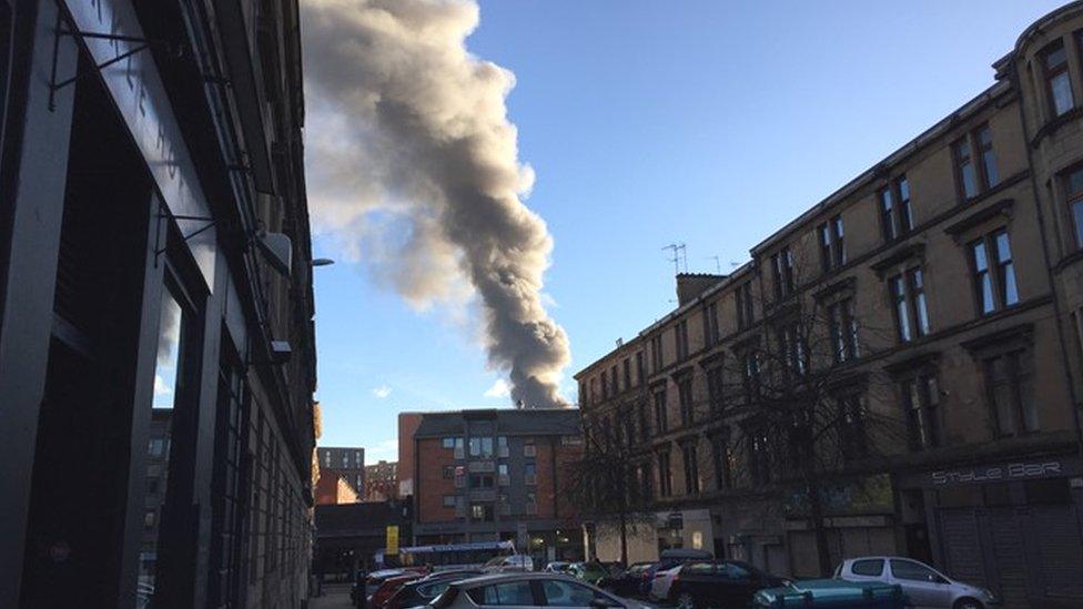
[[[544,565],[583,558],[561,497],[583,450],[577,409],[425,413],[414,433],[417,545],[515,541]]]

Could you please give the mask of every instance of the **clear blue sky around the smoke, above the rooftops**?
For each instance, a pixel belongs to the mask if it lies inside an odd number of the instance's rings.
[[[482,1],[467,41],[510,69],[527,204],[571,375],[671,309],[672,264],[713,272],[992,84],[1060,1]],[[401,410],[508,406],[468,325],[316,255],[325,446],[395,459]],[[494,393],[494,392],[489,392]]]

